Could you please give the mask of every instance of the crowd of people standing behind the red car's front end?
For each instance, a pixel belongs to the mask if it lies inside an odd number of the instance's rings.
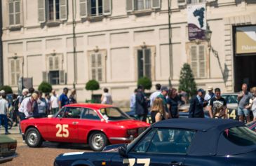
[[[13,94],[13,102],[8,103],[4,90],[0,92],[0,124],[4,120],[5,134],[8,132],[8,117],[11,117],[15,126],[18,126],[20,121],[27,118],[43,118],[48,114],[55,114],[62,106],[66,104],[76,103],[76,90],[71,90],[71,94],[67,97],[68,88],[64,88],[59,96],[55,90],[44,94],[41,91],[36,91],[34,88],[25,88],[22,90],[22,95]]]

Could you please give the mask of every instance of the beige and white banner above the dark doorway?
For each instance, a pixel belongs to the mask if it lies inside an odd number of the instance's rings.
[[[236,27],[236,54],[256,53],[256,26]]]

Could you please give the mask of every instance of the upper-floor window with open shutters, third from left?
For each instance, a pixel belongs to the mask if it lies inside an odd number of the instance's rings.
[[[80,15],[81,18],[86,18],[100,15],[111,15],[112,1],[111,0],[80,0]]]

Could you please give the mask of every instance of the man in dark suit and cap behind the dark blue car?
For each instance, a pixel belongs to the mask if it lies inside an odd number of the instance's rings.
[[[205,107],[208,102],[203,99],[205,91],[203,89],[197,90],[197,95],[191,99],[189,106],[189,118],[204,118],[203,107]]]

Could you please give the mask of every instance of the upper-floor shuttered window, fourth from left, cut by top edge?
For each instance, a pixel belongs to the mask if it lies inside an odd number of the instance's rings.
[[[147,11],[154,8],[161,8],[161,0],[126,0],[126,10]]]

